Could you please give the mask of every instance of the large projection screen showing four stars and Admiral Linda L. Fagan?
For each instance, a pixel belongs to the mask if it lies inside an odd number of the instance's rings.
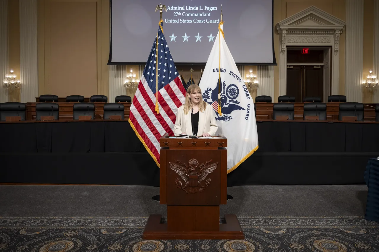
[[[164,0],[164,37],[175,63],[205,63],[221,4],[225,40],[237,64],[276,65],[272,0]],[[111,0],[109,65],[144,64],[158,31],[155,0]]]

